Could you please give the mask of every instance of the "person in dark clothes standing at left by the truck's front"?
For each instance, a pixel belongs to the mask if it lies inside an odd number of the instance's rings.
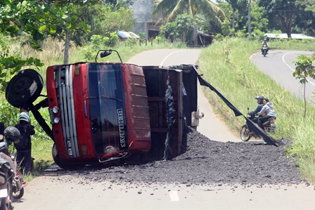
[[[17,151],[16,162],[22,169],[23,173],[29,173],[32,166],[32,142],[31,135],[34,135],[35,131],[30,124],[30,115],[27,112],[20,113],[20,123],[15,125],[20,131],[20,142],[14,144]]]

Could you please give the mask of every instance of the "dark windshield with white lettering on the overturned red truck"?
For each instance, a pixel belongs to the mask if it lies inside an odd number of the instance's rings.
[[[89,111],[96,155],[127,151],[122,67],[89,64]]]

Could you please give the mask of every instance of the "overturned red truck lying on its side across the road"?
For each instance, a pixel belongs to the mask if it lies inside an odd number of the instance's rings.
[[[48,67],[46,96],[38,72],[18,72],[6,88],[6,100],[14,107],[28,103],[54,142],[54,161],[65,169],[181,154],[184,129],[197,109],[197,66],[98,63],[99,53],[103,58],[112,50],[98,51],[95,63]],[[39,97],[44,99],[34,105]],[[47,107],[48,123],[39,112]]]

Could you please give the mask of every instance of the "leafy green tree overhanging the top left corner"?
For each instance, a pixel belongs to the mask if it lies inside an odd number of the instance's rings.
[[[68,52],[69,37],[67,30],[83,28],[89,30],[89,26],[83,22],[77,22],[75,5],[96,4],[97,0],[68,0],[68,1],[0,1],[0,33],[4,36],[10,34],[17,36],[21,31],[30,34],[32,48],[40,50],[40,41],[46,34],[57,34],[65,41],[65,53]],[[60,30],[58,30],[60,29]],[[68,55],[65,54],[65,58]],[[68,61],[64,61],[67,63]]]

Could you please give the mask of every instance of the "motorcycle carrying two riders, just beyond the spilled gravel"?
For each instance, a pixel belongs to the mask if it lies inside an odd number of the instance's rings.
[[[248,112],[249,112],[250,108],[248,107]],[[248,117],[250,120],[257,118],[255,114],[251,114],[250,117]],[[271,117],[268,119],[268,121],[264,122],[264,124],[262,124],[262,126],[264,126],[264,131],[266,131],[267,133],[276,133],[276,117]],[[255,133],[252,133],[250,131],[250,129],[248,128],[248,124],[245,124],[242,126],[242,128],[240,129],[240,139],[243,141],[248,141],[250,140],[250,138],[259,138],[259,136],[257,136]]]

